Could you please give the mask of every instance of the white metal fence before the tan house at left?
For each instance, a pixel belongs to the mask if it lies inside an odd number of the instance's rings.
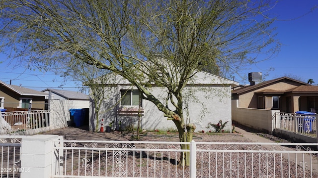
[[[13,111],[1,113],[2,134],[50,126],[50,110]]]

